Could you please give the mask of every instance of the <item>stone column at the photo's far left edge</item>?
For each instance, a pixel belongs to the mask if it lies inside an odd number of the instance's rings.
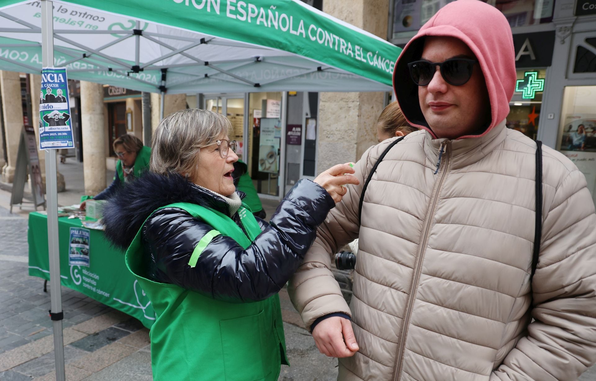
[[[0,72],[2,110],[4,112],[4,137],[8,162],[2,168],[2,181],[13,182],[17,163],[18,143],[23,131],[23,104],[21,103],[21,79],[17,72]]]

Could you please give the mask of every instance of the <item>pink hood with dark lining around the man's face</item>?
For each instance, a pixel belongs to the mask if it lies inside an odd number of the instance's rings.
[[[509,101],[516,86],[516,62],[513,35],[505,16],[495,7],[479,0],[457,0],[437,12],[412,38],[393,70],[393,89],[404,116],[412,125],[429,128],[418,102],[418,86],[412,82],[408,63],[418,60],[424,47],[424,36],[449,36],[460,39],[476,55],[485,76],[491,100],[491,124],[480,135],[487,134],[509,114]]]

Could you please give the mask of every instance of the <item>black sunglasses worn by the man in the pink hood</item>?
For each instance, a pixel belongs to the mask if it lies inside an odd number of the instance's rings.
[[[433,79],[435,67],[439,70],[445,82],[461,86],[472,76],[472,69],[477,60],[468,58],[449,58],[443,62],[414,61],[408,64],[410,76],[418,86],[426,86]]]

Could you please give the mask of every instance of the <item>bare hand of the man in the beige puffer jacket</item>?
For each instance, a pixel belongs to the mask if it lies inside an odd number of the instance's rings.
[[[312,337],[319,352],[328,357],[350,357],[359,349],[352,323],[343,317],[330,317],[316,324]]]

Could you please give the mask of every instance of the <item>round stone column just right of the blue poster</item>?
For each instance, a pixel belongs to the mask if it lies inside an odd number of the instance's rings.
[[[85,194],[105,189],[104,89],[101,83],[80,81]]]

